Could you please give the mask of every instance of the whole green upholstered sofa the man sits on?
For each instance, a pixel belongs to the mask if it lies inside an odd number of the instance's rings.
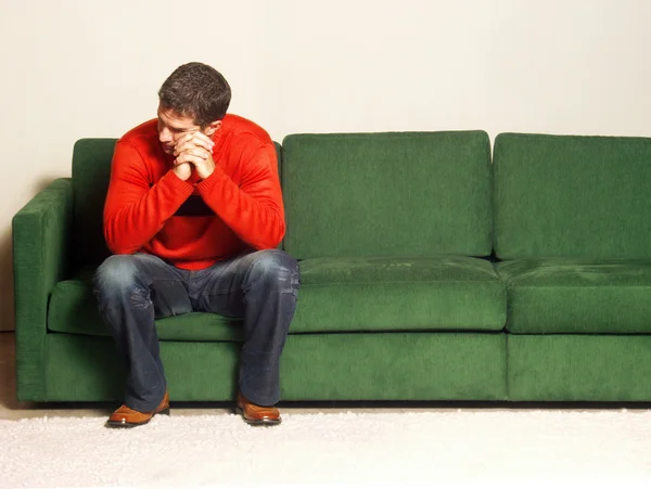
[[[17,397],[122,400],[97,313],[114,139],[13,219]],[[651,399],[651,139],[291,134],[283,400]],[[156,322],[173,400],[231,400],[241,324]]]

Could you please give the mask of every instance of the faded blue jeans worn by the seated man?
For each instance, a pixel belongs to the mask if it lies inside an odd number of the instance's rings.
[[[280,355],[296,308],[298,263],[278,249],[182,270],[148,255],[113,255],[98,268],[100,316],[127,362],[125,404],[154,410],[167,388],[154,319],[192,311],[243,318],[239,387],[248,400],[280,399]]]

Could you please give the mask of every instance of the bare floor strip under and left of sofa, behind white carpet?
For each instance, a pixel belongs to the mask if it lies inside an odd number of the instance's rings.
[[[15,334],[0,332],[0,420],[22,420],[42,416],[95,417],[107,416],[118,406],[106,402],[92,403],[33,403],[18,402],[15,396]],[[444,412],[486,411],[486,410],[576,410],[599,411],[627,409],[648,411],[649,402],[635,403],[506,403],[506,402],[281,402],[282,413],[337,413],[337,412]],[[230,402],[171,402],[174,415],[228,414],[232,412]]]

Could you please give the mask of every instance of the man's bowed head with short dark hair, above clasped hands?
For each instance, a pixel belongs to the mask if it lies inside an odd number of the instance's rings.
[[[174,153],[177,140],[190,131],[213,136],[230,104],[230,86],[215,68],[203,63],[179,66],[158,91],[158,139]]]

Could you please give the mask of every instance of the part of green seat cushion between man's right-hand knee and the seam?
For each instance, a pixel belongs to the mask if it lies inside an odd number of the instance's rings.
[[[490,261],[311,258],[301,261],[294,332],[502,330],[506,293]]]

